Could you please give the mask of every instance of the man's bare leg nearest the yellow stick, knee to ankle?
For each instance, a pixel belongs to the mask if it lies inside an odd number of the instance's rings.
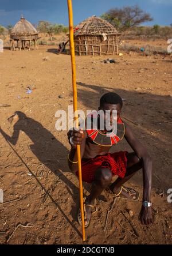
[[[91,194],[85,199],[85,210],[87,212],[87,220],[85,225],[91,219],[92,208],[87,205],[94,205],[95,199],[101,194],[104,189],[111,184],[112,172],[109,169],[99,167],[95,172],[95,180],[92,182]]]

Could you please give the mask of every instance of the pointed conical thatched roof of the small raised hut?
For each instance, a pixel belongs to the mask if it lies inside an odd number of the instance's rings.
[[[15,24],[14,28],[11,29],[11,36],[34,36],[38,35],[36,28],[26,20],[23,16]]]

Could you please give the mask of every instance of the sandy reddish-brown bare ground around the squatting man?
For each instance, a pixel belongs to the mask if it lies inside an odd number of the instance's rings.
[[[154,225],[143,226],[142,198],[139,202],[117,199],[105,231],[114,197],[104,191],[86,231],[87,243],[170,244],[172,59],[124,54],[115,56],[118,63],[101,63],[105,58],[76,57],[79,108],[97,108],[100,96],[109,91],[126,99],[123,118],[130,120],[126,121],[153,157],[152,201],[157,217]],[[76,220],[79,182],[67,166],[67,133],[55,129],[56,111],[72,105],[70,56],[54,54],[53,47],[6,49],[0,61],[0,104],[10,105],[0,107],[0,189],[5,202],[0,204],[0,243],[83,243]],[[28,86],[33,89],[30,94],[26,94]],[[15,111],[18,116],[8,121]],[[132,152],[125,140],[112,148],[119,150]],[[142,171],[128,185],[142,195]],[[89,190],[84,183],[84,194]]]

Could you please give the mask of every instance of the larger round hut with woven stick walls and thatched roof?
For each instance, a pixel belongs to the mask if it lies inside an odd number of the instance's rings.
[[[119,54],[119,35],[109,22],[89,17],[75,29],[75,52],[77,55]]]

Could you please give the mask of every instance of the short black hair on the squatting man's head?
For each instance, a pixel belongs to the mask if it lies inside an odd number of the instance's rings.
[[[100,106],[103,104],[120,104],[120,107],[123,107],[123,100],[122,98],[115,92],[108,92],[105,93],[100,99]]]

